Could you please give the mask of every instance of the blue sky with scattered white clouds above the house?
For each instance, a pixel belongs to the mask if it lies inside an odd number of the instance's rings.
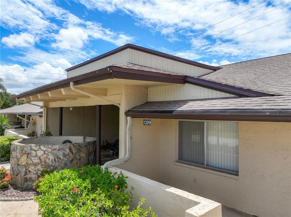
[[[0,77],[21,93],[126,43],[215,66],[289,53],[288,3],[3,0]]]

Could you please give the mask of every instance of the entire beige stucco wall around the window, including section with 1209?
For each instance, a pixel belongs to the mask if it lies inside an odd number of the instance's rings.
[[[237,177],[175,163],[178,120],[151,121],[132,118],[131,157],[118,168],[251,215],[291,216],[291,123],[239,121]]]

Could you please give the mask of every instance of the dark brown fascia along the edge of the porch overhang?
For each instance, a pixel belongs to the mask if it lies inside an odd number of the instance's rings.
[[[74,82],[74,85],[80,85],[113,78],[185,84],[184,75],[174,75],[160,72],[141,71],[109,66],[106,68],[102,68],[100,70],[91,71],[88,73],[76,75],[74,77],[66,78],[54,83],[46,84],[44,86],[40,86],[27,92],[21,93],[17,96],[13,96],[10,99],[11,100],[15,100],[16,98],[21,99],[24,97],[44,93],[47,91],[70,87],[70,82]]]

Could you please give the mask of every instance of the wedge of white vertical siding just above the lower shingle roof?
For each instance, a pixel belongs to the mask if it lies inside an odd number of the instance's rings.
[[[192,84],[174,84],[147,88],[147,101],[208,99],[234,96]]]

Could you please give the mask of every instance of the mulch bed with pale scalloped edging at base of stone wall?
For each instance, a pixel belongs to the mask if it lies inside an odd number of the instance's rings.
[[[0,197],[1,198],[27,198],[27,197],[35,197],[38,196],[39,193],[33,189],[28,188],[20,188],[14,185],[9,185],[8,188],[0,189]]]

